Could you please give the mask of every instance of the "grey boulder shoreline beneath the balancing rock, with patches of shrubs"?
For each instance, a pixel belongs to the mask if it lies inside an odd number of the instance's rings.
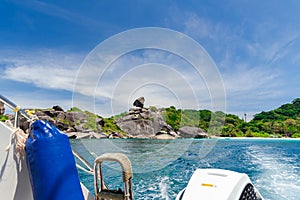
[[[162,110],[151,110],[144,107],[133,107],[113,122],[107,122],[103,117],[88,111],[71,109],[64,111],[60,106],[49,109],[30,109],[39,119],[48,121],[69,138],[145,138],[145,139],[177,139],[177,138],[207,138],[208,135],[197,127],[181,127],[175,131],[168,125],[162,115]],[[10,116],[13,121],[13,117]],[[116,130],[105,129],[109,123]],[[28,131],[29,122],[21,119],[20,127]],[[116,129],[116,128],[115,128]]]

